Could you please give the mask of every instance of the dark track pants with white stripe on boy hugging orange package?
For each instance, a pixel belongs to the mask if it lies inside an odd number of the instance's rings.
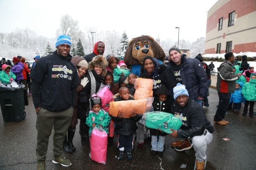
[[[120,151],[131,151],[133,147],[133,134],[129,136],[119,135],[117,147]]]

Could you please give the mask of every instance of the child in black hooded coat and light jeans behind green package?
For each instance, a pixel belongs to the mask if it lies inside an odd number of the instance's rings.
[[[171,113],[172,102],[173,100],[168,89],[165,87],[165,85],[161,85],[161,87],[157,89],[154,101],[152,103],[154,111]],[[152,145],[151,154],[156,155],[156,153],[158,153],[158,155],[162,157],[164,150],[164,136],[167,135],[167,133],[160,132],[157,129],[150,129],[150,135]]]

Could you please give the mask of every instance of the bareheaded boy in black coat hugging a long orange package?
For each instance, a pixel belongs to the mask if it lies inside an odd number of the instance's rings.
[[[115,98],[115,101],[134,100],[127,87],[120,87],[119,96]],[[116,122],[116,134],[119,135],[118,145],[119,159],[124,158],[124,150],[126,150],[127,158],[132,159],[132,147],[133,147],[133,134],[137,130],[137,122],[140,120],[140,116],[136,113],[132,113],[132,117],[123,118],[124,115],[119,113],[117,117],[111,115],[113,121]]]

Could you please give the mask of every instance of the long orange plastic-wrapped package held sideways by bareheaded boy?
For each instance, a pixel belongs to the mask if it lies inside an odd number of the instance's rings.
[[[124,118],[131,117],[132,113],[144,114],[153,110],[152,102],[154,98],[140,99],[140,100],[124,100],[112,101],[109,106],[109,113],[117,117],[119,113],[124,115]]]

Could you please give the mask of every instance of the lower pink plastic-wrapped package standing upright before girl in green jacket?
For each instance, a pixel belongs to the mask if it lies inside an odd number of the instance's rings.
[[[102,128],[93,128],[90,137],[91,159],[105,164],[107,161],[108,134]]]

